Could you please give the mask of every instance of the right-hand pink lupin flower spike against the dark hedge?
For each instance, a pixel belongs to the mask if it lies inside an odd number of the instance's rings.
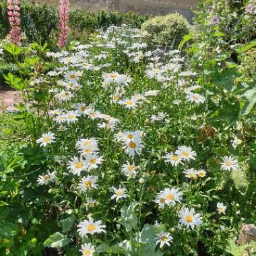
[[[69,0],[60,0],[59,7],[59,48],[63,48],[67,44],[67,35],[69,32]]]

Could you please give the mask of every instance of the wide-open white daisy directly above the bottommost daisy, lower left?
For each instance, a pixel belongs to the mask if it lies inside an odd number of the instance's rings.
[[[88,220],[83,220],[80,222],[78,225],[78,230],[77,232],[79,233],[80,236],[86,237],[87,234],[100,234],[102,232],[106,232],[104,228],[106,228],[105,225],[102,225],[102,221],[98,220],[94,222],[93,218],[89,218]]]

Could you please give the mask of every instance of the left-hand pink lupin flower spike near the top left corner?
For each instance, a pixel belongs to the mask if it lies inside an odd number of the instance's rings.
[[[7,0],[7,14],[10,25],[9,35],[11,42],[20,44],[20,2],[18,0]]]

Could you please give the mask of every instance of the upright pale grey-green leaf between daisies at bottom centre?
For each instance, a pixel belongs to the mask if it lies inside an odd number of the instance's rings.
[[[127,230],[132,230],[137,226],[137,216],[135,214],[136,205],[137,203],[133,202],[129,207],[123,206],[121,208],[121,221]]]

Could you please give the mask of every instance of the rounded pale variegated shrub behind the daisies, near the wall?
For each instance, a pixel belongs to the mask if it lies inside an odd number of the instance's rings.
[[[177,48],[185,34],[189,34],[189,22],[179,14],[157,16],[141,25],[141,34],[150,46]]]

